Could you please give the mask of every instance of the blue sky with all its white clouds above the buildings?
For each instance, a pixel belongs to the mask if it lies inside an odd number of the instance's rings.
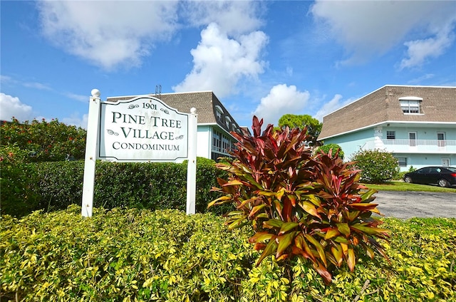
[[[90,90],[212,90],[239,125],[456,85],[456,1],[1,1],[0,119],[86,127]]]

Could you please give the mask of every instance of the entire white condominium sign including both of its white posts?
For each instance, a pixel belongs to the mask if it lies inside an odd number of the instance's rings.
[[[195,214],[197,114],[180,113],[150,95],[100,101],[92,90],[86,141],[83,217],[92,216],[95,161],[182,162],[187,166],[187,214]]]

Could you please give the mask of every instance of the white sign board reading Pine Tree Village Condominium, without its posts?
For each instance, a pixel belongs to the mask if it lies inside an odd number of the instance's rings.
[[[98,158],[118,162],[185,160],[188,117],[149,96],[103,102]]]

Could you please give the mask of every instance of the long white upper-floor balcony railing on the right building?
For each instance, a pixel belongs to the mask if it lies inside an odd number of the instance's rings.
[[[393,153],[456,153],[456,140],[371,140],[362,149],[380,149]]]

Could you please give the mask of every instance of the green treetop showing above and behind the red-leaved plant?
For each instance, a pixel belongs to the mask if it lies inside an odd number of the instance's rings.
[[[322,124],[316,118],[312,118],[311,115],[286,114],[279,119],[279,127],[307,129],[307,134],[309,135],[307,139],[312,145],[315,145],[316,139],[320,135]]]

